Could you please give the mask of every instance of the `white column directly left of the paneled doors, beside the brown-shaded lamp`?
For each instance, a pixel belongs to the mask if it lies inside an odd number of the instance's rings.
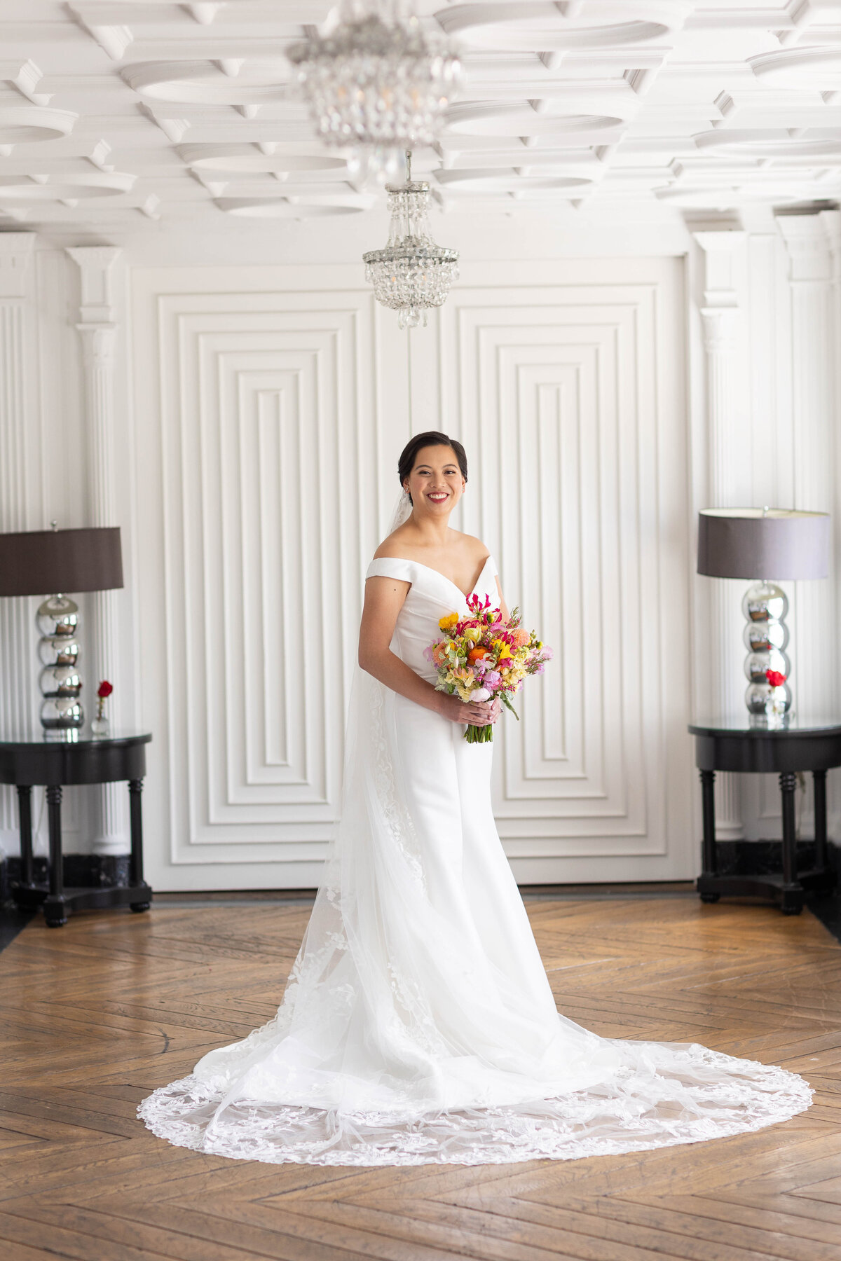
[[[117,325],[113,322],[112,267],[120,250],[81,246],[67,251],[78,265],[82,281],[81,320],[76,325],[82,338],[84,376],[86,433],[90,469],[90,523],[117,526],[113,426],[115,426],[115,353]],[[96,591],[92,596],[91,652],[86,676],[87,704],[96,704],[96,687],[102,678],[115,683],[108,700],[112,729],[120,720],[120,662],[117,634],[117,591]],[[122,784],[105,784],[101,810],[93,837],[95,854],[126,854],[129,836]]]

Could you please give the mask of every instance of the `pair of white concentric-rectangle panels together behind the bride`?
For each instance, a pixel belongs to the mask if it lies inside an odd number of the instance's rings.
[[[363,574],[427,427],[465,443],[464,528],[557,649],[497,749],[517,874],[692,869],[681,264],[464,279],[409,339],[353,267],[134,272],[159,888],[316,880]]]

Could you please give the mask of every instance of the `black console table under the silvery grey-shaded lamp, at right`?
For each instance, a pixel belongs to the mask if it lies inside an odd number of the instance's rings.
[[[841,725],[797,719],[777,730],[750,726],[749,715],[731,721],[693,723],[695,762],[701,772],[704,808],[704,871],[697,880],[701,902],[721,894],[770,897],[783,914],[797,915],[807,892],[831,893],[835,871],[827,861],[826,773],[841,767]],[[783,870],[770,875],[719,875],[715,846],[715,773],[772,772],[779,776],[783,798]],[[794,791],[797,772],[815,781],[815,866],[797,870]]]

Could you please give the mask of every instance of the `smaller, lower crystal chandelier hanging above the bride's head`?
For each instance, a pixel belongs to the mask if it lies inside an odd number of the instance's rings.
[[[412,180],[412,155],[406,154],[406,183],[387,185],[391,227],[385,250],[362,255],[366,280],[383,306],[398,311],[400,328],[426,324],[430,306],[443,306],[459,279],[459,252],[435,245],[426,219],[429,184]]]

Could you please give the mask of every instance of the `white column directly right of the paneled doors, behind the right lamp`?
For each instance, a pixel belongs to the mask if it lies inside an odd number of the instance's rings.
[[[701,328],[706,368],[707,504],[740,506],[744,489],[739,474],[740,431],[746,424],[739,358],[741,310],[736,269],[744,250],[744,232],[696,232],[704,257]],[[744,644],[740,593],[724,580],[710,580],[710,692],[720,714],[744,709]],[[736,776],[716,778],[716,836],[740,840],[740,786]]]

